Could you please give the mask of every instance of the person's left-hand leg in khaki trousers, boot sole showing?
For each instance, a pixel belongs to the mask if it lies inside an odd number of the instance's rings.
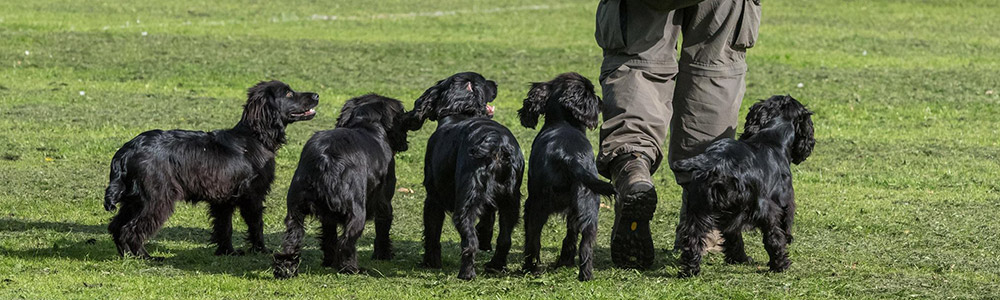
[[[604,94],[598,171],[618,193],[611,257],[618,267],[648,268],[654,258],[649,220],[656,210],[652,173],[663,160],[672,114],[676,43],[674,12],[642,2],[604,1],[598,43],[604,48]],[[616,43],[620,42],[620,43]]]

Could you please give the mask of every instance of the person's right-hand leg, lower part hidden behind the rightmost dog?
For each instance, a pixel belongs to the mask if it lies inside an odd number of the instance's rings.
[[[683,15],[679,20],[684,38],[668,162],[693,157],[713,141],[735,136],[745,92],[746,49],[756,40],[760,20],[755,1],[708,0],[678,12]],[[691,180],[687,173],[674,175],[678,184]],[[681,205],[681,220],[686,208],[686,203]],[[719,236],[718,231],[709,234],[706,244],[718,244]]]

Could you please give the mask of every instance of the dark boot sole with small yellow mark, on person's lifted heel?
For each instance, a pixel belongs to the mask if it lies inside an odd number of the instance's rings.
[[[612,228],[611,260],[627,269],[647,269],[653,264],[653,236],[649,220],[656,211],[656,189],[632,191],[623,197],[618,222]]]

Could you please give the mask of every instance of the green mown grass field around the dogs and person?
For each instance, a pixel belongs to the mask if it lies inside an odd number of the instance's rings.
[[[424,141],[434,126],[411,134],[397,156],[399,187],[413,192],[393,200],[394,260],[370,261],[374,230],[365,231],[367,275],[320,267],[312,230],[292,280],[272,278],[269,255],[212,256],[204,205],[179,204],[150,241],[165,261],[121,259],[101,203],[120,145],[154,128],[230,127],[246,88],[263,79],[322,97],[319,116],[291,125],[277,157],[265,215],[271,248],[302,144],[332,128],[349,97],[378,92],[410,107],[436,80],[474,70],[498,82],[496,119],[528,149],[536,131],[515,113],[528,83],[566,71],[597,78],[596,1],[127,2],[0,2],[0,299],[1000,297],[995,0],[763,1],[740,116],[785,93],[816,112],[816,151],[792,168],[791,269],[763,272],[760,234],[749,233],[757,265],[710,255],[700,277],[676,279],[666,248],[680,188],[660,170],[655,267],[612,267],[614,212],[602,209],[595,280],[586,283],[574,269],[458,280],[454,229],[445,230],[444,268],[417,267]],[[543,263],[555,260],[561,222],[543,233]],[[235,223],[241,238],[245,226]],[[519,225],[512,269],[522,241]],[[489,256],[480,255],[480,271]]]

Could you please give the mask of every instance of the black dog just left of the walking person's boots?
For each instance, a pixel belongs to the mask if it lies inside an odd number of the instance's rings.
[[[534,83],[517,111],[521,125],[535,128],[545,114],[531,145],[528,164],[528,200],[524,202],[524,266],[535,272],[540,262],[542,226],[553,213],[566,214],[566,238],[556,266],[573,266],[577,235],[580,240],[580,281],[593,279],[594,239],[597,238],[599,195],[615,188],[597,174],[587,129],[597,127],[601,100],[594,85],[577,73],[565,73],[549,82]]]

